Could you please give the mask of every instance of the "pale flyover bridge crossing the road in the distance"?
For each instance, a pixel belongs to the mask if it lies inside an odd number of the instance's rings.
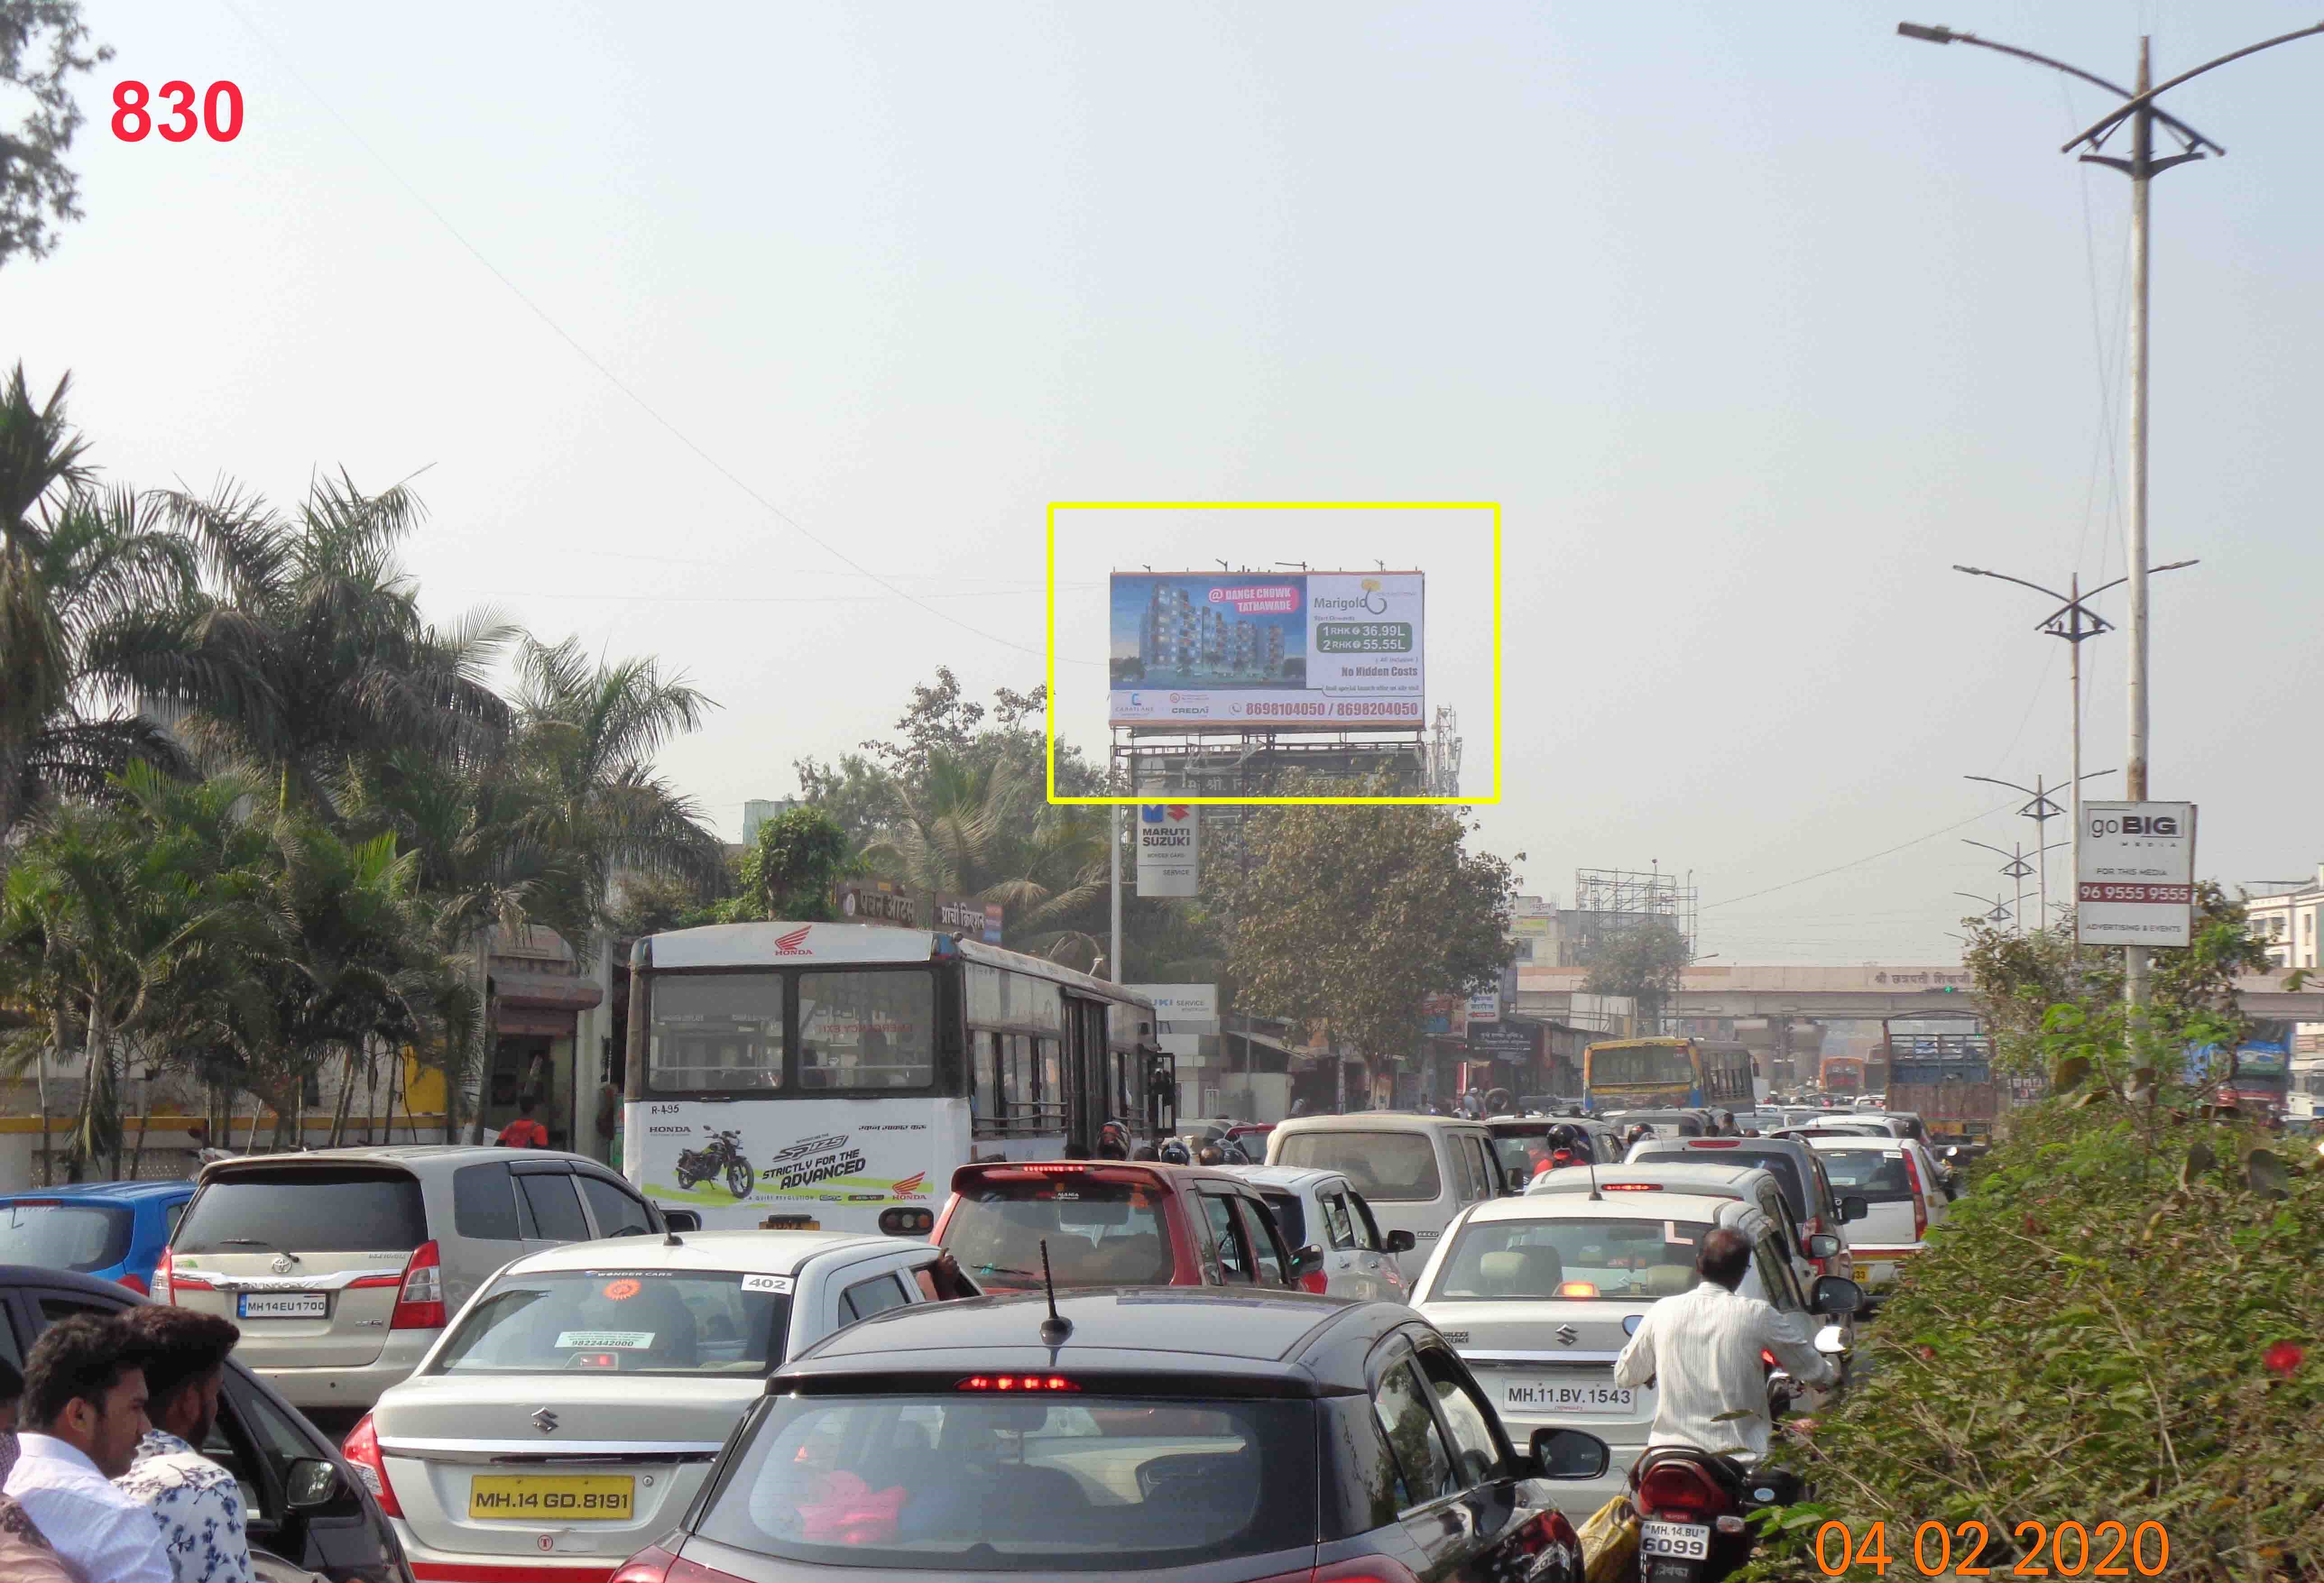
[[[1583,967],[1518,967],[1518,1013],[1566,1020]],[[2238,979],[2243,1009],[2259,1018],[2324,1023],[2324,988],[2284,988],[2287,974]],[[1678,979],[1671,1016],[1882,1018],[1971,1011],[1975,986],[1959,962],[1864,967],[1697,965]]]

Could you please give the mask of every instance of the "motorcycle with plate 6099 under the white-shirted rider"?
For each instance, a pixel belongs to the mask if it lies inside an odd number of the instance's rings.
[[[1838,1325],[1815,1337],[1815,1351],[1845,1364]],[[1783,1418],[1801,1385],[1762,1353],[1769,1413]],[[1638,1583],[1717,1583],[1738,1571],[1759,1543],[1752,1513],[1806,1499],[1799,1474],[1750,1467],[1694,1446],[1655,1446],[1638,1460],[1631,1504],[1638,1509]]]

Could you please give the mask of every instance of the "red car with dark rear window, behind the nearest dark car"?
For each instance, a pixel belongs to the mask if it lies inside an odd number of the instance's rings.
[[[1290,1248],[1260,1190],[1227,1172],[1143,1160],[995,1160],[953,1172],[937,1218],[946,1248],[988,1292],[1041,1288],[1257,1285],[1320,1292],[1322,1248]]]

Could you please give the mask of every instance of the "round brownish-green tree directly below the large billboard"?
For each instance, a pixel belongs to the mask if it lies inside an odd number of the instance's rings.
[[[1301,779],[1287,795],[1348,795]],[[1322,1020],[1367,1067],[1413,1053],[1420,1002],[1499,981],[1518,881],[1452,809],[1264,807],[1246,867],[1215,867],[1232,916],[1239,1000],[1260,1016]]]

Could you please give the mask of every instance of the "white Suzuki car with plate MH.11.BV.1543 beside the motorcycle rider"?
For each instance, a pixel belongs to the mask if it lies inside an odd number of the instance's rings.
[[[1776,1223],[1734,1197],[1529,1192],[1464,1211],[1429,1255],[1413,1306],[1469,1360],[1508,1439],[1587,1430],[1613,1448],[1599,1478],[1557,1483],[1557,1506],[1576,1523],[1627,1490],[1655,1425],[1655,1388],[1615,1385],[1613,1360],[1648,1306],[1701,1278],[1694,1258],[1713,1227],[1752,1244],[1745,1297],[1810,1311],[1815,1288],[1801,1285]],[[1855,1309],[1848,1281],[1824,1276],[1817,1288]]]

